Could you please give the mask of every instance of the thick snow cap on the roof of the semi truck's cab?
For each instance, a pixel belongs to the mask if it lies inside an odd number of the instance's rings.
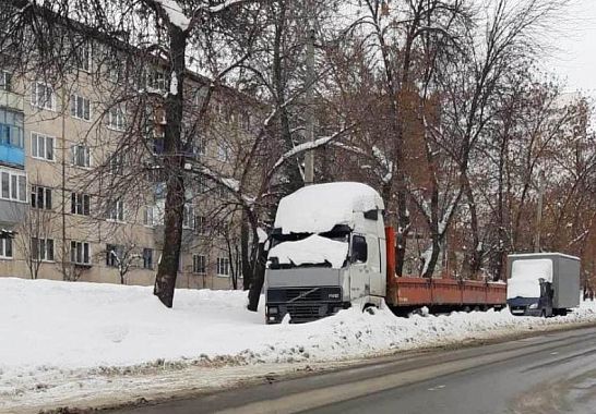
[[[354,228],[354,212],[383,209],[383,199],[369,185],[338,182],[309,185],[282,198],[275,228],[282,233],[322,233],[336,224]]]

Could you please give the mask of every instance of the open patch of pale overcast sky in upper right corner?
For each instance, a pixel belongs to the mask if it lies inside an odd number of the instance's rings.
[[[567,90],[596,98],[596,0],[572,0],[558,25],[547,69],[567,81]]]

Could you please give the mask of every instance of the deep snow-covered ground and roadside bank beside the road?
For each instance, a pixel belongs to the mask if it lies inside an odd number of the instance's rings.
[[[264,325],[243,292],[0,279],[0,412],[100,405],[213,389],[368,356],[596,322],[596,303],[551,319],[500,313],[396,318],[356,309]]]

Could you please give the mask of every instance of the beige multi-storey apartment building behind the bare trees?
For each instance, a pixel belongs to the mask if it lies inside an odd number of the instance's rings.
[[[146,173],[151,163],[136,154],[144,149],[127,149],[130,157],[122,149],[132,117],[110,96],[117,71],[94,70],[93,49],[83,52],[88,59],[59,84],[0,71],[0,277],[153,284],[165,185],[158,173]],[[158,64],[145,72],[153,95],[166,89]],[[199,104],[207,82],[195,74],[188,82]],[[191,157],[234,174],[235,148],[250,135],[252,114],[251,105],[233,110],[227,104],[247,99],[230,88],[214,92],[213,133],[193,141]],[[143,102],[154,119],[145,149],[158,157],[163,110]],[[123,174],[128,184],[114,185]],[[177,283],[230,289],[241,278],[238,215],[227,207],[225,188],[204,178],[187,192]]]

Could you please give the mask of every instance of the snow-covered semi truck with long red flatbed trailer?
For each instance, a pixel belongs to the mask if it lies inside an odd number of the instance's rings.
[[[383,211],[379,193],[360,183],[311,185],[284,197],[265,271],[267,324],[383,302],[397,314],[506,305],[504,282],[396,277],[395,232]]]

